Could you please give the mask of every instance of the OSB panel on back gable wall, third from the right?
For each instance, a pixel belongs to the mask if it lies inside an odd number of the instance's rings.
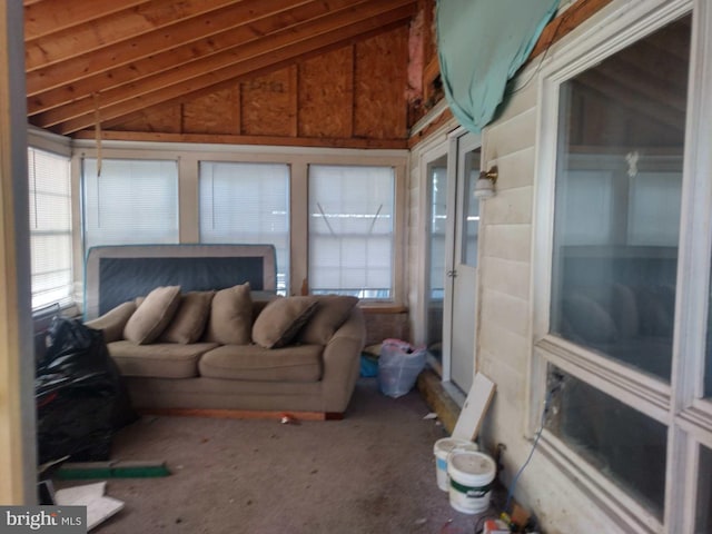
[[[296,136],[296,67],[241,82],[241,134]]]

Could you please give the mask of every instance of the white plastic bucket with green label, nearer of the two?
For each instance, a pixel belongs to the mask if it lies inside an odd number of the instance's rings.
[[[496,465],[492,457],[473,451],[453,451],[447,457],[449,504],[465,514],[479,514],[490,507]]]

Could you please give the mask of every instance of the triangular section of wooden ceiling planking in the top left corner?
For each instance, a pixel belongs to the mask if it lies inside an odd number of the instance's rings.
[[[57,33],[151,0],[53,0],[50,6],[24,2],[24,46],[34,39]]]

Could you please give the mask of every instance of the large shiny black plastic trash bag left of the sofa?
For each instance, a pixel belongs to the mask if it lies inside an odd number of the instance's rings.
[[[113,432],[136,419],[103,335],[56,317],[37,363],[38,459],[109,459]]]

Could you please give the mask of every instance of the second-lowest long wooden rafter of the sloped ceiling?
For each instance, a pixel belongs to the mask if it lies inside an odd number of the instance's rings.
[[[235,68],[241,61],[249,60],[250,58],[268,55],[275,49],[293,46],[299,40],[317,38],[319,34],[338,30],[355,21],[376,17],[394,8],[402,8],[404,6],[411,9],[414,2],[411,0],[378,0],[356,7],[352,6],[294,28],[285,28],[241,47],[222,50],[212,56],[200,58],[199,60],[179,62],[180,67],[178,68],[164,70],[148,78],[142,78],[138,81],[99,92],[99,101],[102,107],[111,106],[122,100],[134,99],[141,95],[152,92],[159,88],[174,86],[184,80],[200,77],[205,72],[220,70],[226,67]],[[93,112],[95,106],[93,95],[87,95],[71,103],[37,115],[33,122],[47,128],[90,111]]]

